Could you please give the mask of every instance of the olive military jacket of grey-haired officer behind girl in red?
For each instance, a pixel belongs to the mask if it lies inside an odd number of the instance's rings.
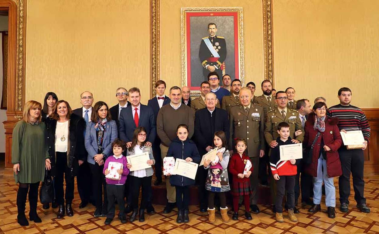
[[[235,150],[235,138],[242,138],[247,143],[247,155],[259,157],[259,151],[265,149],[263,108],[251,104],[246,114],[243,105],[236,105],[230,108],[229,121],[229,150]]]

